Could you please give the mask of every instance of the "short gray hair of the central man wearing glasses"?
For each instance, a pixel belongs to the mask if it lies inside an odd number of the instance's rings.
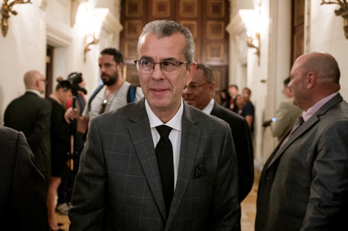
[[[138,52],[143,43],[143,38],[147,33],[156,35],[159,39],[169,37],[174,34],[182,34],[185,37],[186,41],[182,53],[185,56],[186,61],[189,61],[190,63],[194,62],[193,36],[192,33],[183,25],[172,20],[156,20],[147,23],[139,36]],[[186,64],[186,68],[187,66],[188,64]]]

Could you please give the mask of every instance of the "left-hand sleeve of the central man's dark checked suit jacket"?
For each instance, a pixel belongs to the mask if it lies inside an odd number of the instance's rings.
[[[107,173],[99,129],[91,119],[69,210],[70,230],[103,230]]]

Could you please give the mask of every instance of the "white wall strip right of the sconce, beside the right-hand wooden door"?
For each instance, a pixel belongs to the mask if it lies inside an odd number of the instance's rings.
[[[291,0],[270,0],[266,5],[265,1],[261,7],[262,11],[268,12],[269,28],[262,40],[262,48],[268,50],[268,61],[262,63],[267,65],[266,79],[266,95],[264,100],[264,107],[257,112],[257,117],[260,119],[258,124],[258,142],[255,152],[255,165],[260,169],[267,160],[275,145],[278,143],[277,139],[271,136],[269,128],[262,129],[262,122],[270,119],[280,101],[284,98],[281,94],[283,88],[283,80],[290,72],[290,25],[291,15],[288,9],[291,8]],[[267,10],[268,9],[268,10]],[[266,15],[266,14],[264,14]],[[267,43],[267,47],[263,44]],[[263,59],[263,57],[262,57]]]

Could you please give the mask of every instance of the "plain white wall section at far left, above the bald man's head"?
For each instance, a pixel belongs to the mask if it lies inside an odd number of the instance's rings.
[[[23,75],[30,69],[45,72],[44,12],[38,1],[32,4],[15,4],[17,15],[8,19],[6,37],[0,35],[0,123],[11,100],[24,92]]]

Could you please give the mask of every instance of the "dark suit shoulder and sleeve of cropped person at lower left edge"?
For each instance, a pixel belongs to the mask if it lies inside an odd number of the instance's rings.
[[[33,163],[34,155],[24,134],[2,130],[0,133],[0,137],[6,136],[0,144],[0,174],[7,180],[1,181],[0,189],[2,226],[11,230],[49,231],[45,180]]]

